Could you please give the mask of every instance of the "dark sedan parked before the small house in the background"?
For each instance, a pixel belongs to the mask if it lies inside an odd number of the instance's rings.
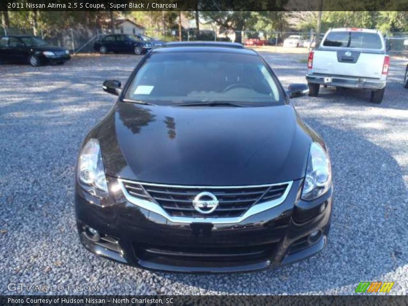
[[[93,44],[93,48],[102,54],[108,52],[126,52],[141,55],[154,47],[149,42],[139,40],[134,35],[106,35]]]

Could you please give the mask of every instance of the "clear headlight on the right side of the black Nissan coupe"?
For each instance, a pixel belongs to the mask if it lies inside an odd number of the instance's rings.
[[[330,185],[331,169],[329,157],[319,143],[313,142],[310,146],[301,198],[307,201],[314,200],[326,193]]]

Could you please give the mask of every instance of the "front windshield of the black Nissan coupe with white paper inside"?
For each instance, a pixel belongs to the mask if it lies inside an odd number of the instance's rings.
[[[160,105],[283,104],[273,75],[256,55],[174,52],[151,55],[130,82],[125,99]]]

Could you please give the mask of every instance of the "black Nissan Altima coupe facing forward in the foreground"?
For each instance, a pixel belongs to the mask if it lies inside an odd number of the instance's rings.
[[[151,50],[86,137],[80,239],[146,269],[250,271],[324,248],[333,206],[323,140],[264,59],[234,43]]]

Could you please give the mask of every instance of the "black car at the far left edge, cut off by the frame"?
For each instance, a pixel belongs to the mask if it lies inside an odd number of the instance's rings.
[[[0,63],[29,63],[40,66],[64,64],[71,56],[67,49],[50,45],[36,36],[9,35],[0,37]]]

